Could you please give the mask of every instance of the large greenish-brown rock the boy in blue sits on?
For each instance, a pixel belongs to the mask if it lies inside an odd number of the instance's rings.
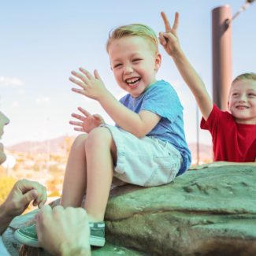
[[[254,256],[256,167],[188,171],[161,187],[115,187],[106,239],[93,255]]]

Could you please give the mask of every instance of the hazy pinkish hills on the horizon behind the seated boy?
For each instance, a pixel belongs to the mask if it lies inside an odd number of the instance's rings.
[[[8,150],[14,150],[17,152],[30,152],[30,153],[45,153],[48,154],[65,154],[70,149],[72,141],[75,137],[61,136],[56,139],[49,139],[45,141],[25,141],[17,143],[11,147],[7,147]],[[188,143],[188,147],[191,150],[192,158],[197,158],[196,143]],[[199,157],[200,160],[207,160],[212,158],[212,147],[210,145],[199,145]]]

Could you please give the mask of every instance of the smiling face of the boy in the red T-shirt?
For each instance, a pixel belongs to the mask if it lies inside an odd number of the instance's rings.
[[[256,124],[256,80],[232,83],[228,109],[239,124]]]

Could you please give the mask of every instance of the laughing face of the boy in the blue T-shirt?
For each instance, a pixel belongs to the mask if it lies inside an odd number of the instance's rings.
[[[156,82],[155,75],[161,65],[148,39],[125,36],[114,39],[108,47],[111,69],[118,85],[133,97],[138,97]]]

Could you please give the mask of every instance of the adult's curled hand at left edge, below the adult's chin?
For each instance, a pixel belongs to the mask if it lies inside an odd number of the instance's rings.
[[[31,180],[18,180],[3,206],[9,217],[16,217],[27,209],[30,202],[41,208],[46,199],[46,188],[43,185]]]

